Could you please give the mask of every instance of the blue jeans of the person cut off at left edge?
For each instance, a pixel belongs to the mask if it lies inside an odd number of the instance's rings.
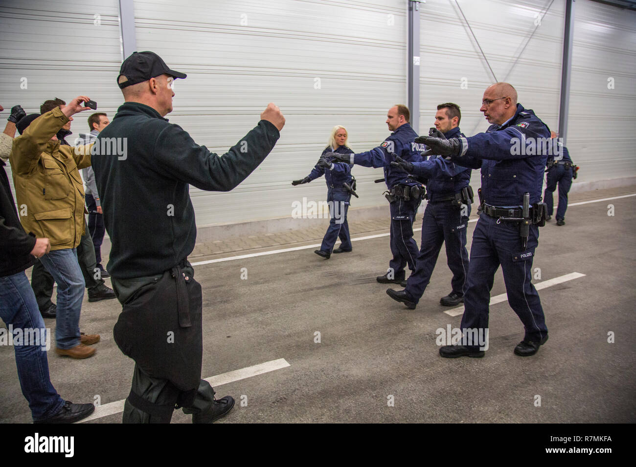
[[[0,317],[14,331],[18,328],[45,328],[38,302],[24,271],[0,277]],[[31,345],[14,346],[13,349],[22,394],[29,402],[33,420],[38,421],[59,412],[64,399],[55,391],[48,376],[48,360],[43,342],[39,342],[39,345],[30,343]]]

